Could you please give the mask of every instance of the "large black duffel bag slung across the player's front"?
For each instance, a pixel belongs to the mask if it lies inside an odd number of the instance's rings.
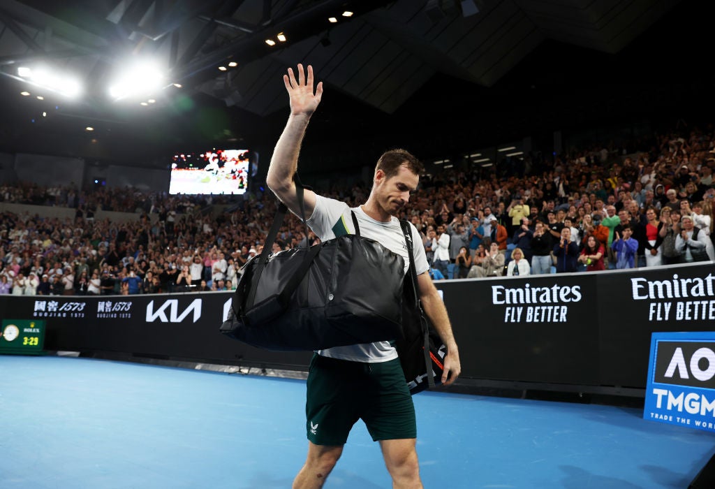
[[[296,187],[302,211],[302,187]],[[355,234],[270,255],[286,212],[279,204],[261,254],[244,265],[220,331],[280,351],[401,337],[403,257],[360,237],[355,214]]]

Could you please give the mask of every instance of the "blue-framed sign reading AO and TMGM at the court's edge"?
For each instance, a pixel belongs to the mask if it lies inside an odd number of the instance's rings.
[[[653,333],[643,417],[715,433],[715,332]]]

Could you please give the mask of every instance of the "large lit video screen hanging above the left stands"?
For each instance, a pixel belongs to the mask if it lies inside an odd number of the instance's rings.
[[[174,154],[169,194],[245,194],[249,175],[255,173],[251,159],[248,149]]]

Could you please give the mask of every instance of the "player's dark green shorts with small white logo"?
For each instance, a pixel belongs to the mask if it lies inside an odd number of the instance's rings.
[[[375,441],[417,438],[415,405],[399,358],[363,363],[313,355],[305,417],[315,445],[344,445],[359,419]]]

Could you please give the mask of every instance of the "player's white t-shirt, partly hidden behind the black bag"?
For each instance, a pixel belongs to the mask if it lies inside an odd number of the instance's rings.
[[[355,217],[358,219],[360,236],[375,239],[388,250],[402,256],[405,260],[406,274],[410,267],[410,257],[407,243],[405,242],[405,234],[403,234],[400,227],[400,219],[397,217],[390,219],[390,222],[376,221],[368,214],[365,214],[360,207],[351,209],[345,202],[316,195],[315,210],[313,210],[310,219],[307,219],[307,224],[321,241],[327,241],[345,234],[355,234],[355,225],[352,223],[350,211],[355,212]],[[415,271],[417,275],[420,275],[427,272],[430,266],[427,262],[427,257],[425,257],[425,248],[418,246],[422,242],[422,238],[413,224],[410,224],[410,232],[412,234],[413,254],[415,255]],[[375,280],[380,280],[380,277],[375,277]],[[324,357],[368,363],[387,362],[398,357],[397,350],[390,345],[389,341],[329,348],[327,350],[318,350],[317,354]]]

